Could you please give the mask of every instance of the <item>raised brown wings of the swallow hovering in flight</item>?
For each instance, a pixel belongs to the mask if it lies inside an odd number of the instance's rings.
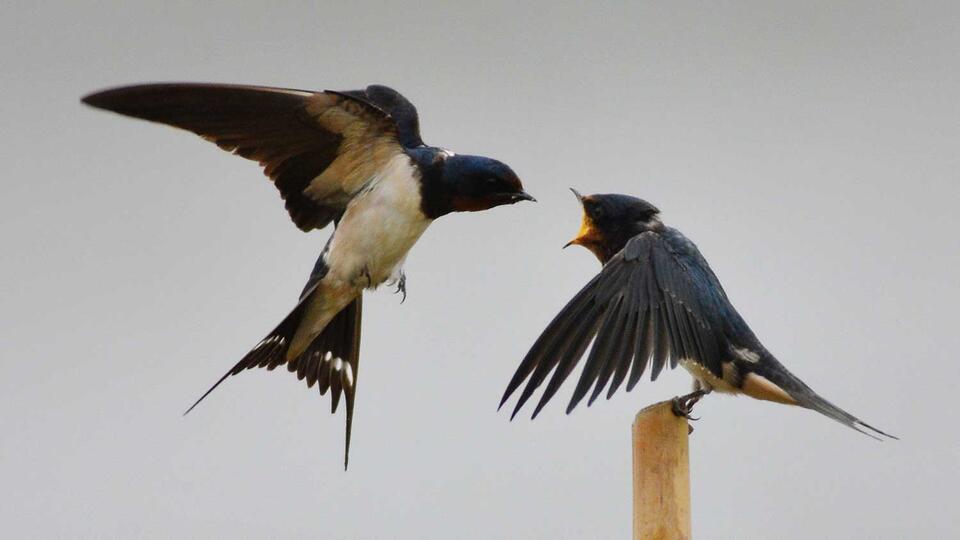
[[[300,229],[320,229],[404,147],[422,144],[417,111],[385,86],[310,92],[224,84],[146,84],[83,102],[192,131],[260,162]]]

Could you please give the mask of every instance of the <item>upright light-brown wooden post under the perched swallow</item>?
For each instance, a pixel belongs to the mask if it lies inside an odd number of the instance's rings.
[[[687,420],[663,401],[633,421],[633,538],[689,540],[690,451]]]

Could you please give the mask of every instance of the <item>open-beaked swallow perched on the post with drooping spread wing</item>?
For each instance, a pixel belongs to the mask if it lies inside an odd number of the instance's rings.
[[[502,407],[527,381],[511,418],[552,371],[536,417],[593,341],[568,414],[591,386],[588,405],[608,383],[609,399],[624,380],[627,391],[633,389],[647,366],[656,380],[669,363],[682,365],[694,378],[694,392],[675,401],[678,414],[688,414],[700,396],[717,390],[799,405],[871,437],[860,428],[895,438],[823,399],[787,371],[734,309],[697,246],[665,226],[655,206],[627,195],[574,194],[583,206],[583,223],[567,245],[589,249],[603,269],[523,359],[500,401]]]

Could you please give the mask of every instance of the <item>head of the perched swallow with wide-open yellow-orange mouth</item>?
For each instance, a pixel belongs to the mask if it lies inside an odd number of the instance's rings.
[[[580,195],[570,191],[583,206],[583,222],[577,236],[567,242],[583,246],[606,263],[634,236],[663,227],[657,216],[660,210],[643,199],[629,195]]]

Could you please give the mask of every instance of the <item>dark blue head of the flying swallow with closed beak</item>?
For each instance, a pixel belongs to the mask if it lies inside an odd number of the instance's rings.
[[[519,201],[536,201],[523,190],[516,173],[495,159],[448,155],[441,175],[446,199],[443,213],[478,212]]]

